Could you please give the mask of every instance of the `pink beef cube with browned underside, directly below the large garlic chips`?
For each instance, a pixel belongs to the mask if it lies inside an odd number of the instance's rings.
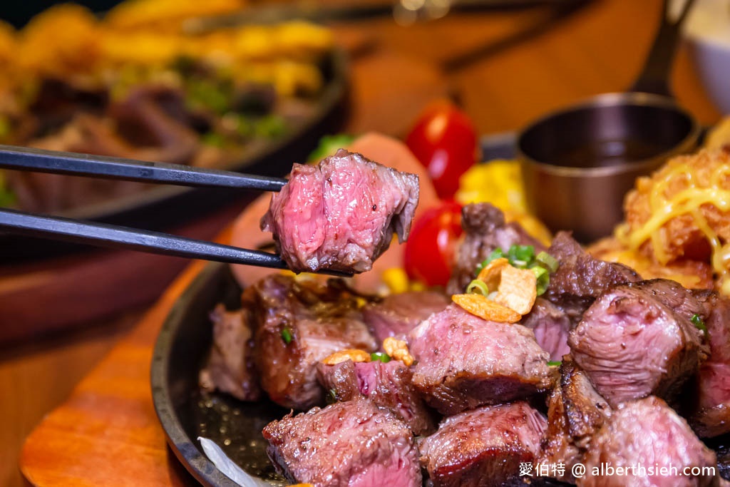
[[[548,353],[522,325],[485,321],[450,304],[409,334],[413,384],[451,415],[550,387]]]

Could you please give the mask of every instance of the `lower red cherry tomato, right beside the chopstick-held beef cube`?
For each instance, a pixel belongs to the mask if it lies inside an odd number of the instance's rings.
[[[411,228],[404,264],[408,277],[426,285],[446,285],[461,236],[461,205],[445,202],[423,212]]]

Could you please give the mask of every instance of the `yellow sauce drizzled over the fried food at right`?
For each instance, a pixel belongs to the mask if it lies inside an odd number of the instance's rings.
[[[730,191],[723,188],[723,180],[729,176],[730,165],[718,164],[710,173],[710,184],[703,187],[690,164],[666,167],[664,175],[660,180],[654,181],[649,193],[650,218],[635,229],[631,229],[629,223],[621,224],[616,228],[615,237],[634,252],[645,242],[651,242],[656,261],[667,264],[671,257],[664,250],[666,232],[662,229],[672,218],[689,215],[696,228],[702,231],[710,243],[712,269],[719,277],[721,291],[730,295],[730,244],[723,244],[702,214],[702,206],[705,204],[710,204],[721,212],[730,210]],[[669,185],[679,180],[683,180],[686,187],[671,197],[666,196]]]

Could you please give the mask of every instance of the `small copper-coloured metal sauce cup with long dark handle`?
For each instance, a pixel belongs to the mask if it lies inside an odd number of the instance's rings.
[[[665,2],[654,45],[631,91],[553,112],[518,136],[529,209],[550,230],[572,230],[581,242],[611,234],[636,178],[696,147],[699,124],[677,104],[667,83],[692,1],[674,23]]]

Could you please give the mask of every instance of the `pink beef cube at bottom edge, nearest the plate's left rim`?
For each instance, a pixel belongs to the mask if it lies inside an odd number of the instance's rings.
[[[318,487],[420,487],[410,429],[368,399],[287,415],[264,428],[269,458],[293,482]]]

